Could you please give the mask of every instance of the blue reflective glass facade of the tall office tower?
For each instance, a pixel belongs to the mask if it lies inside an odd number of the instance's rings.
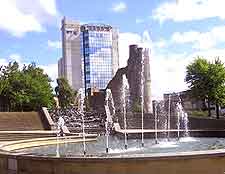
[[[112,32],[81,31],[83,84],[85,89],[106,88],[112,79]]]

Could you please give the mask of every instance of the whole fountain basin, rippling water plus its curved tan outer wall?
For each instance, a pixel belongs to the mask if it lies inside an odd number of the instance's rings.
[[[60,157],[46,153],[46,148],[55,152],[54,145],[12,151],[5,151],[6,149],[2,148],[0,171],[2,174],[9,174],[8,172],[19,174],[221,174],[225,171],[225,138],[181,138],[179,142],[173,138],[169,142],[159,139],[159,144],[154,144],[154,139],[145,139],[144,148],[141,148],[141,140],[128,139],[126,152],[122,152],[124,140],[113,138],[115,137],[109,139],[109,154],[104,152],[105,137],[101,136],[97,138],[97,141],[87,142],[85,157],[82,155],[82,143],[60,144],[61,148],[64,147],[69,152],[69,146],[80,146],[81,150],[78,153],[79,148],[75,148],[75,152],[60,154]],[[113,149],[119,144],[121,148]],[[179,146],[182,147],[180,150]],[[37,149],[42,153],[37,153],[35,151]],[[92,149],[96,149],[98,153],[92,152]],[[61,149],[60,152],[62,153],[63,150]]]

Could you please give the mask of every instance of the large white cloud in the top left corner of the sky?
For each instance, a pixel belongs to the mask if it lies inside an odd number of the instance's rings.
[[[16,37],[44,32],[44,23],[58,15],[55,0],[7,0],[0,4],[0,30]]]

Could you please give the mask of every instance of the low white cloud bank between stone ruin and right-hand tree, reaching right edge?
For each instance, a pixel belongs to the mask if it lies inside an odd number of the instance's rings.
[[[197,57],[214,61],[219,57],[225,62],[225,49],[212,48],[191,53],[171,53],[153,50],[151,55],[152,95],[154,99],[162,98],[162,94],[179,92],[188,89],[186,84],[186,66]]]

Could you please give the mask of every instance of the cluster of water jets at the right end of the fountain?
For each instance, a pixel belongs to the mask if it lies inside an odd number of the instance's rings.
[[[183,109],[179,95],[169,94],[165,100],[154,101],[153,115],[155,137],[158,138],[158,129],[165,133],[168,141],[174,137],[175,131],[178,140],[181,137],[181,131],[183,137],[189,136],[188,115]]]

